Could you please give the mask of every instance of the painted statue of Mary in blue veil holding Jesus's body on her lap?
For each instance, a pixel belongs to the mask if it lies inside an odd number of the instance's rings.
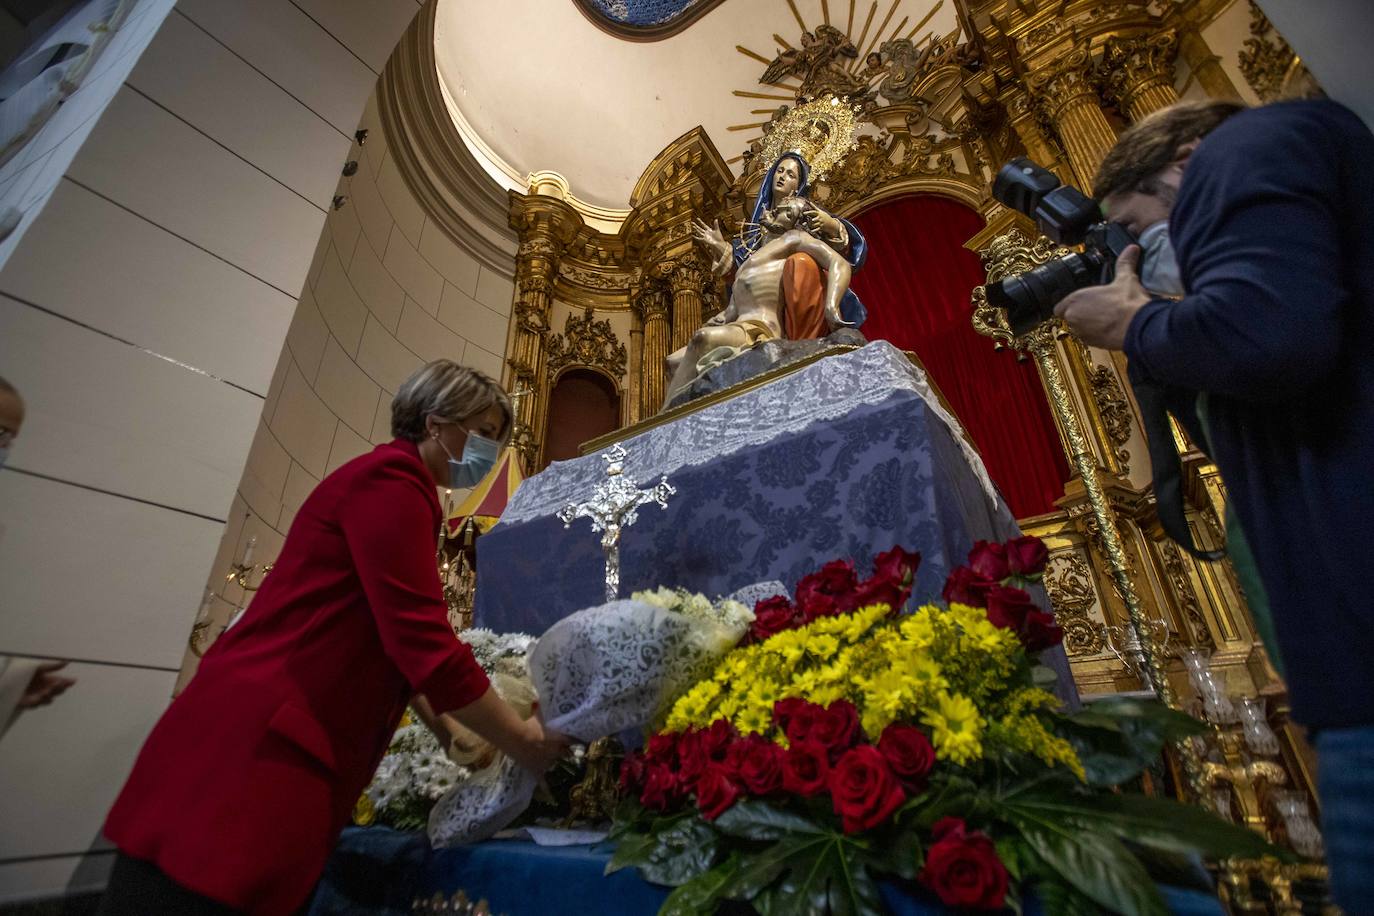
[[[849,277],[863,265],[867,243],[805,192],[805,162],[785,154],[768,170],[741,239],[727,242],[719,224],[695,221],[692,235],[712,253],[716,276],[735,266],[735,280],[725,310],[668,357],[665,408],[702,372],[764,341],[820,338],[863,323]]]

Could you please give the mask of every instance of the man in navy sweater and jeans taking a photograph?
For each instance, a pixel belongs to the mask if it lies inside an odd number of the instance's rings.
[[[1198,445],[1243,536],[1230,552],[1253,553],[1263,593],[1248,582],[1250,604],[1263,626],[1267,597],[1293,718],[1316,733],[1333,893],[1363,912],[1374,901],[1374,602],[1359,571],[1374,536],[1374,136],[1327,100],[1180,103],[1121,135],[1095,195],[1146,250],[1127,249],[1112,283],[1055,314],[1084,342],[1125,350],[1132,379],[1195,404]]]

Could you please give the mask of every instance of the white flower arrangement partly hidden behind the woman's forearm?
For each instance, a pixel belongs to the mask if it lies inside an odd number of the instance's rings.
[[[496,692],[528,710],[533,689],[529,687],[525,659],[534,637],[469,629],[460,633],[460,639],[473,650],[473,656],[492,678]],[[434,733],[407,711],[386,757],[359,799],[354,823],[423,829],[434,802],[480,769],[455,762],[448,750],[440,747]]]

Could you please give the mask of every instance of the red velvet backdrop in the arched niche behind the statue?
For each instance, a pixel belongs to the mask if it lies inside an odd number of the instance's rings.
[[[860,330],[921,357],[1017,518],[1051,511],[1069,467],[1035,364],[993,350],[969,320],[969,294],[984,273],[963,243],[982,218],[955,201],[916,195],[852,221],[868,239],[868,261],[852,280],[868,309]]]

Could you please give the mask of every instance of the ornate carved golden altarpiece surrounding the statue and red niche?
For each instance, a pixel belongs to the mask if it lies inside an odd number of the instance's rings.
[[[508,192],[503,202],[519,240],[506,383],[529,390],[518,408],[517,442],[526,467],[540,466],[550,391],[570,367],[592,368],[616,382],[624,426],[654,416],[664,398],[664,358],[724,308],[727,294],[692,244],[691,221],[720,220],[727,233],[738,233],[771,165],[761,155],[768,133],[791,107],[811,100],[808,93],[840,98],[863,125],[845,159],[813,183],[811,196],[819,205],[852,216],[914,194],[959,201],[985,220],[967,247],[980,253],[989,279],[998,279],[1043,262],[1054,249],[1025,218],[992,201],[996,168],[1028,155],[1063,181],[1091,190],[1120,130],[1176,100],[1176,87],[1241,98],[1202,36],[1231,1],[952,0],[959,27],[926,40],[915,37],[923,23],[903,37],[905,21],[890,34],[886,21],[871,32],[874,4],[867,22],[861,8],[857,19],[849,16],[856,32],[863,25],[856,41],[838,29],[824,34],[816,29],[824,40],[800,43],[807,51],[801,54],[778,36],[783,51],[772,60],[739,47],[758,59],[765,80],[735,96],[775,107],[756,108],[768,118],[738,129],[758,128],[761,136],[727,161],[705,130],[687,130],[647,165],[617,232],[591,225],[565,183],[537,173],[528,192]],[[433,132],[433,121],[422,124],[423,113],[441,110],[433,67],[423,73],[425,55],[433,54],[431,22],[430,11],[412,27],[418,37],[403,41],[397,58],[408,69],[397,71],[393,60],[382,76],[383,118],[409,136]],[[1257,11],[1253,23],[1253,40],[1239,55],[1250,88],[1261,98],[1309,92],[1311,77],[1292,49]],[[448,144],[455,162],[467,162],[449,135],[431,146]],[[734,163],[741,163],[738,177]],[[442,210],[447,198],[436,190],[442,176],[400,165],[422,199],[437,201],[430,209]],[[497,205],[482,203],[488,210]],[[555,327],[559,312],[563,327]],[[609,320],[616,316],[622,327],[628,317],[628,339],[617,338]],[[1050,545],[1046,585],[1079,689],[1090,696],[1135,691],[1147,684],[1142,674],[1153,673],[1189,706],[1194,691],[1179,652],[1201,647],[1212,654],[1228,692],[1268,700],[1283,769],[1315,801],[1311,754],[1286,724],[1285,688],[1264,656],[1231,566],[1195,562],[1162,537],[1124,357],[1087,347],[1059,327],[1013,338],[981,288],[973,291],[970,320],[989,335],[989,346],[1036,361],[1074,467],[1057,511],[1021,519],[1021,526]],[[1182,433],[1176,445],[1193,537],[1205,548],[1216,547],[1223,538],[1226,488]],[[1103,518],[1114,536],[1105,534]],[[1158,650],[1153,663],[1142,663],[1132,645],[1132,612],[1136,630],[1150,633]],[[1224,764],[1216,761],[1194,758],[1183,769],[1187,773],[1176,773],[1176,783],[1189,784],[1194,795],[1210,799],[1217,786],[1231,784],[1221,775]],[[1275,828],[1257,810],[1263,788],[1242,791],[1235,784],[1234,814],[1272,835]],[[1237,886],[1234,901],[1243,897]],[[1281,904],[1275,912],[1286,912]]]

